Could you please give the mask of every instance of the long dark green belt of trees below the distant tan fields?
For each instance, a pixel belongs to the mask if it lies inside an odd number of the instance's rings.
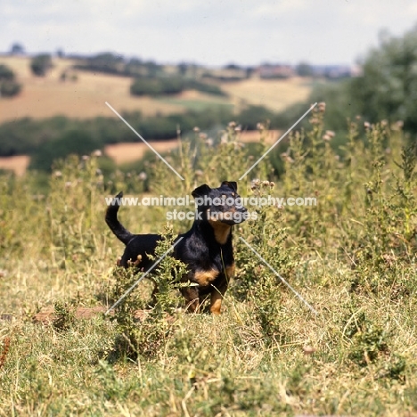
[[[258,116],[253,118],[250,114]],[[264,121],[270,113],[249,107],[236,119],[243,122],[248,118],[250,125],[257,127],[256,120]],[[192,132],[194,127],[200,129],[217,129],[225,126],[233,118],[228,109],[205,109],[204,111],[188,111],[187,113],[171,114],[167,117],[152,116],[144,118],[139,112],[124,113],[123,117],[146,140],[167,140],[177,135],[177,128],[184,135]],[[261,118],[261,119],[258,119]],[[71,139],[75,135],[75,139]],[[78,140],[82,136],[85,140]],[[65,138],[68,139],[65,142]],[[53,117],[44,120],[18,119],[0,125],[0,155],[12,156],[19,154],[35,155],[33,167],[49,170],[52,156],[54,159],[67,156],[70,152],[88,153],[91,149],[102,149],[109,143],[135,142],[137,137],[119,120],[113,118],[95,118],[87,120]],[[77,146],[74,141],[77,141]],[[43,158],[42,155],[45,155]],[[45,159],[45,160],[44,160]]]

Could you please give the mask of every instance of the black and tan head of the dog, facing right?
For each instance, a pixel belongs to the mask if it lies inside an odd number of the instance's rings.
[[[200,185],[192,192],[197,212],[202,218],[225,225],[238,225],[248,218],[248,210],[241,204],[234,181],[224,181],[218,188]]]

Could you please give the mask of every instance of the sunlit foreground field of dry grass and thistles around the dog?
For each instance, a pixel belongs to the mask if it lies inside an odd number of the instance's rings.
[[[141,195],[143,183],[120,172],[104,182],[94,156],[67,160],[45,196],[33,195],[33,176],[1,176],[0,415],[417,415],[415,149],[402,151],[400,128],[384,123],[352,124],[333,151],[323,112],[290,138],[285,176],[270,183],[266,158],[251,173],[263,181],[239,182],[242,197],[317,205],[248,205],[258,220],[235,227],[221,316],[184,312],[165,258],[156,307],[141,282],[112,319],[77,319],[77,308],[109,307],[137,279],[115,271],[123,247],[104,224],[104,197],[127,186]],[[253,161],[231,125],[197,162],[186,146],[170,155],[184,181],[155,161],[151,193],[218,186]],[[120,218],[135,233],[190,227],[164,229],[168,209],[124,207]],[[53,321],[34,323],[46,307]]]

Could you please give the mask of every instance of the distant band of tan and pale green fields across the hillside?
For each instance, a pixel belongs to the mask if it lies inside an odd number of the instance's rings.
[[[45,78],[34,77],[29,70],[28,57],[0,56],[0,64],[8,65],[15,71],[23,85],[20,95],[12,100],[0,100],[0,123],[23,117],[48,118],[64,115],[70,118],[113,117],[114,114],[104,102],[119,112],[140,110],[144,115],[164,115],[188,109],[205,109],[208,106],[235,106],[242,102],[262,104],[272,110],[307,98],[311,87],[299,79],[247,80],[225,83],[222,88],[230,94],[228,99],[213,98],[208,94],[185,92],[172,98],[152,99],[134,97],[129,94],[131,78],[115,77],[70,70],[73,61],[53,59],[53,70]],[[76,81],[61,81],[62,71],[77,76]]]

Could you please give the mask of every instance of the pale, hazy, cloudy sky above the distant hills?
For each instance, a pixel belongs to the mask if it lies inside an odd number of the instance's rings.
[[[417,24],[417,0],[1,0],[0,52],[120,53],[208,66],[352,65]]]

